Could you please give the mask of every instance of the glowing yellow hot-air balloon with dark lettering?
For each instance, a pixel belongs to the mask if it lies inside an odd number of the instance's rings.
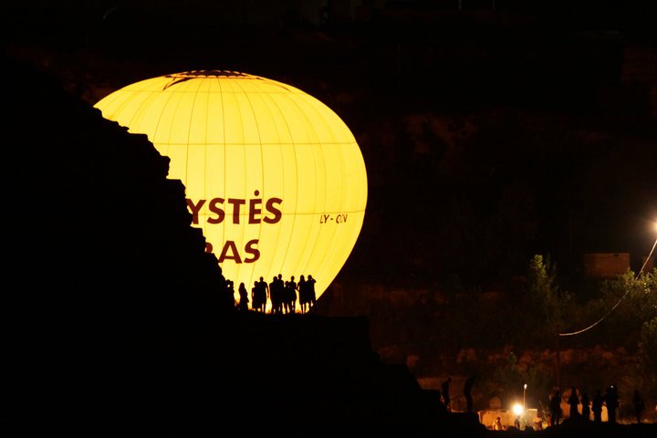
[[[353,134],[318,99],[201,70],[136,82],[95,108],[171,159],[193,226],[235,289],[310,275],[319,297],[338,275],[362,227],[367,173]]]

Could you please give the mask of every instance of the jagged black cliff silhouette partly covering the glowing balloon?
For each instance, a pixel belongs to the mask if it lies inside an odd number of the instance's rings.
[[[2,66],[4,424],[294,434],[446,418],[381,363],[366,318],[236,313],[168,158],[41,72]]]

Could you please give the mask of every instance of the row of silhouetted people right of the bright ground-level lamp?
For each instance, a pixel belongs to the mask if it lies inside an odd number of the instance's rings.
[[[557,390],[552,394],[549,401],[549,424],[551,426],[555,426],[563,420],[561,401],[562,395]],[[608,386],[604,394],[601,393],[600,389],[596,390],[592,400],[589,399],[589,394],[586,392],[581,392],[579,396],[577,388],[573,386],[570,388],[566,402],[568,403],[568,413],[571,420],[590,421],[590,415],[593,413],[593,422],[602,422],[602,408],[606,407],[607,421],[616,422],[616,415],[620,407],[620,397],[616,385]],[[634,391],[631,402],[634,407],[636,421],[641,422],[645,404],[638,390]],[[579,412],[579,405],[581,405],[581,413]]]

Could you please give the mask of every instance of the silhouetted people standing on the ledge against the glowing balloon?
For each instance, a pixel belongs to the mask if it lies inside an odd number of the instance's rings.
[[[232,280],[227,280],[229,292],[234,291]],[[297,313],[308,313],[310,308],[315,306],[317,295],[315,293],[316,280],[313,276],[300,276],[298,282],[295,276],[290,276],[289,280],[283,280],[283,276],[278,274],[274,276],[270,283],[267,283],[261,276],[255,280],[251,293],[246,289],[244,282],[240,283],[237,292],[239,300],[236,307],[239,310],[247,311],[249,301],[251,309],[259,313],[266,313],[267,300],[270,302],[270,314],[287,315]],[[250,299],[249,299],[250,297]]]

